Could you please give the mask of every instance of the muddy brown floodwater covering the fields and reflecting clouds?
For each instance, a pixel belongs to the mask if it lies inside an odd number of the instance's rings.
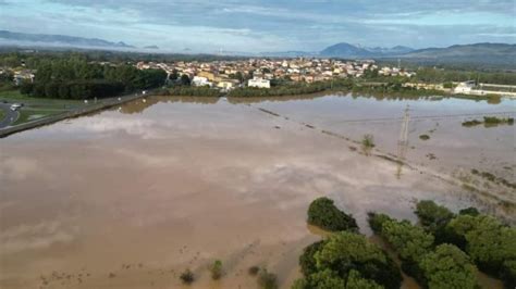
[[[514,103],[150,97],[0,139],[0,287],[183,288],[191,268],[193,288],[256,288],[247,268],[258,265],[288,288],[303,248],[321,238],[305,222],[320,196],[367,235],[368,211],[415,221],[420,199],[514,222],[514,189],[469,174],[515,181],[514,127],[460,126]],[[377,143],[367,154],[364,134]],[[212,281],[217,259],[225,275]]]

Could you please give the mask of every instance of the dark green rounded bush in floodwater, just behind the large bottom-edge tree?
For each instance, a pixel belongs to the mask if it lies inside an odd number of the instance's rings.
[[[325,197],[318,198],[310,203],[308,223],[330,231],[358,230],[355,218],[339,210],[333,204],[333,200]]]

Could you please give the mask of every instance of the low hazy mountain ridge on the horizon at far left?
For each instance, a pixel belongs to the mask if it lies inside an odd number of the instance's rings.
[[[98,38],[83,38],[65,35],[48,35],[48,34],[26,34],[0,30],[0,41],[8,43],[23,45],[50,45],[50,46],[67,46],[67,47],[91,47],[91,48],[111,48],[111,49],[131,49],[134,46],[126,45],[122,41],[111,42]]]

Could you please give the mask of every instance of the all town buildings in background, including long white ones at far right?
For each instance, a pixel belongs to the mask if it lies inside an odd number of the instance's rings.
[[[120,63],[91,61],[101,66],[118,66]],[[440,93],[464,96],[516,97],[516,86],[477,80],[425,81],[417,79],[417,72],[400,65],[379,64],[374,60],[339,60],[318,58],[295,59],[243,59],[216,61],[135,61],[127,64],[139,71],[158,70],[167,73],[165,84],[209,87],[228,92],[235,88],[262,88],[292,84],[314,84],[335,79],[363,80],[364,85],[386,85],[389,79],[401,79],[408,89],[440,91]],[[0,78],[11,77],[14,86],[34,83],[37,70],[21,66],[0,67]],[[374,81],[366,81],[365,79]],[[381,81],[377,81],[381,78]]]

